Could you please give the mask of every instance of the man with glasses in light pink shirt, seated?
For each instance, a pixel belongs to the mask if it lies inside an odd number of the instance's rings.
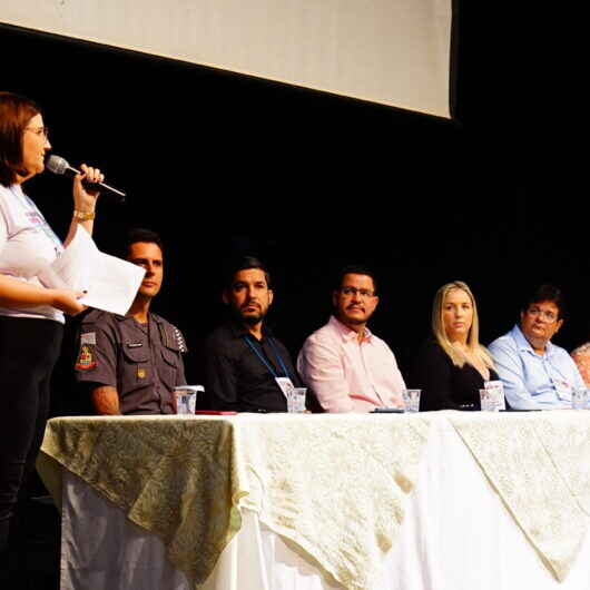
[[[378,303],[373,274],[347,266],[337,285],[334,315],[305,341],[297,358],[299,374],[326,412],[402,407],[405,384],[395,356],[366,327]]]

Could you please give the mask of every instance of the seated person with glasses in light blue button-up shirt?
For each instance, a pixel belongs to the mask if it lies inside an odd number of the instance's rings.
[[[520,324],[489,346],[514,410],[571,406],[572,391],[583,380],[563,348],[551,338],[563,325],[564,301],[553,285],[542,285],[524,302]]]

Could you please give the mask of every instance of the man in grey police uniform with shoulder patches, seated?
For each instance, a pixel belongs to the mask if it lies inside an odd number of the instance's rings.
[[[160,237],[132,229],[127,259],[146,269],[127,315],[95,309],[81,323],[75,371],[97,414],[174,414],[174,387],[185,385],[178,328],[149,312],[164,275]]]

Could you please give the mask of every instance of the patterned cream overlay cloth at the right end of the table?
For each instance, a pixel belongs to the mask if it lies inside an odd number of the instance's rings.
[[[590,523],[590,413],[443,413],[557,580]]]

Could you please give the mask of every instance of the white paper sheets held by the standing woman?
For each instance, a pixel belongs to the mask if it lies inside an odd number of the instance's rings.
[[[46,267],[39,279],[52,288],[86,291],[81,304],[125,315],[146,271],[100,252],[88,232],[78,226],[63,254]]]

